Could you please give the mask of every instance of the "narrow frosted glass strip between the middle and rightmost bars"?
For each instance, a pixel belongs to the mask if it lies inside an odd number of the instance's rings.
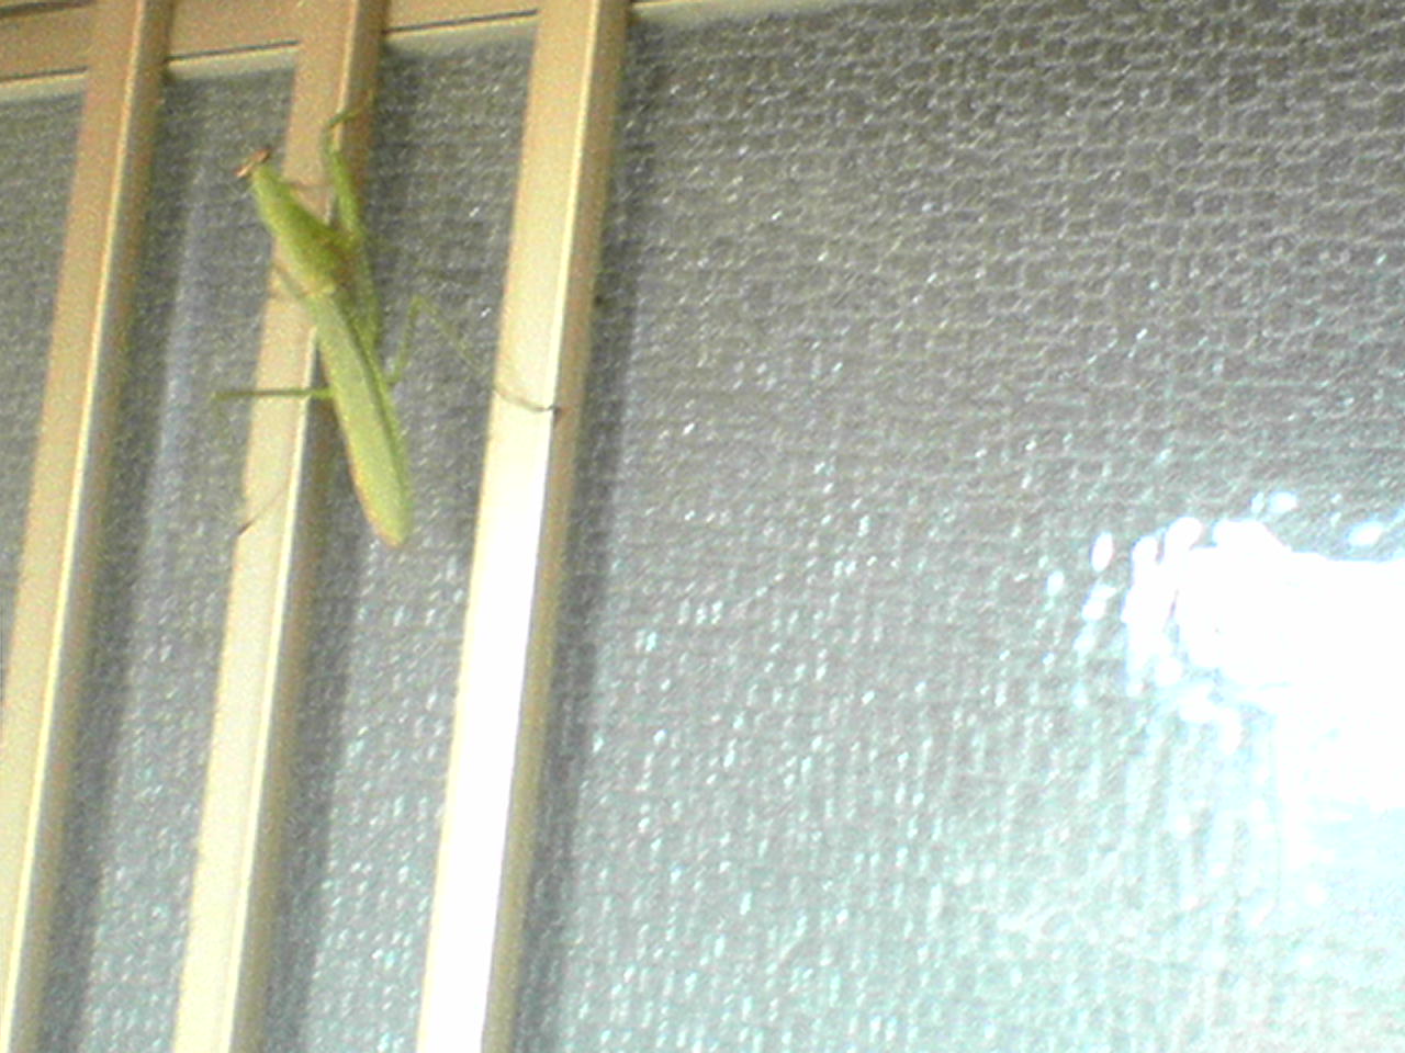
[[[530,56],[524,35],[382,63],[368,219],[389,344],[422,293],[468,347],[420,329],[396,389],[416,487],[403,549],[371,535],[340,459],[332,480],[270,1050],[414,1047]]]

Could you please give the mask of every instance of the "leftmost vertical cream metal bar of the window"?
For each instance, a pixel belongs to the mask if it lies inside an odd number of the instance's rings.
[[[0,709],[0,1052],[34,1053],[171,0],[104,0]]]

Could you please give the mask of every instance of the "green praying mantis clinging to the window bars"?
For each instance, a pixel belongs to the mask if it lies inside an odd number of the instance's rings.
[[[278,249],[284,284],[316,330],[326,388],[225,392],[223,397],[330,400],[365,518],[381,541],[399,548],[414,519],[405,434],[391,399],[403,362],[388,371],[381,359],[381,306],[361,202],[351,171],[332,142],[334,128],[350,115],[333,118],[322,139],[334,205],[332,222],[298,201],[273,167],[270,150],[259,150],[239,170]]]

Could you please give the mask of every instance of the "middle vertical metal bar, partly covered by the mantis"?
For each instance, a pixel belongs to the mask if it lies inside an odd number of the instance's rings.
[[[375,84],[384,0],[305,0],[284,173],[330,215],[320,139],[332,118],[364,107]],[[370,110],[337,126],[353,173],[362,167]],[[277,289],[281,260],[270,267]],[[309,388],[316,347],[306,314],[271,295],[257,389]],[[316,566],[306,510],[320,490],[325,427],[305,402],[256,399],[243,497],[257,515],[235,543],[201,828],[191,887],[173,1053],[257,1053],[271,972],[281,834],[302,694]],[[309,435],[311,432],[311,435]],[[311,442],[309,442],[311,438]]]

